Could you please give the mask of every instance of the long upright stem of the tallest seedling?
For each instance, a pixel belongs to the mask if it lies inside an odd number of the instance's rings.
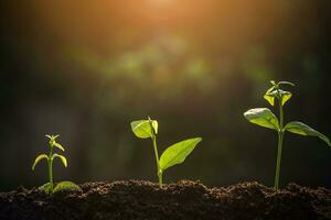
[[[278,131],[278,152],[277,152],[277,165],[276,165],[276,177],[275,177],[275,190],[279,188],[279,175],[280,175],[280,163],[281,163],[281,150],[284,139],[284,110],[282,110],[282,97],[279,98],[279,131]]]

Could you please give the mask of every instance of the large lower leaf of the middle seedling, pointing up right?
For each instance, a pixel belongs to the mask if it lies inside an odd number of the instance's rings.
[[[201,138],[189,139],[169,146],[160,157],[160,169],[163,172],[173,165],[183,163],[201,141]]]

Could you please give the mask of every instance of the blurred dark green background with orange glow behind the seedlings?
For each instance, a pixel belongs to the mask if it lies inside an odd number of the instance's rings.
[[[330,2],[323,0],[1,1],[0,191],[46,182],[44,134],[61,134],[55,180],[157,180],[159,147],[203,142],[164,182],[273,186],[277,135],[243,112],[267,107],[269,80],[290,80],[286,121],[331,136]],[[277,111],[276,111],[277,112]],[[278,112],[277,112],[278,113]],[[281,185],[331,187],[331,148],[286,134]]]

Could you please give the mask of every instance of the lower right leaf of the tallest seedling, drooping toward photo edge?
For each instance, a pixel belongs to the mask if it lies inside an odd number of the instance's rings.
[[[316,131],[314,129],[310,128],[309,125],[302,122],[299,121],[289,122],[288,124],[286,124],[284,130],[289,131],[291,133],[301,134],[301,135],[318,136],[321,140],[323,140],[329,146],[331,146],[331,142],[328,136]]]

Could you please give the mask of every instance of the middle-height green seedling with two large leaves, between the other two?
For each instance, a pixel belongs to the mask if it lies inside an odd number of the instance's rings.
[[[162,187],[162,175],[166,169],[177,164],[181,164],[185,161],[186,156],[194,150],[196,144],[202,141],[201,138],[188,139],[185,141],[178,142],[169,146],[159,157],[157,134],[158,134],[158,121],[151,120],[139,120],[131,122],[132,132],[139,139],[151,139],[153,143],[157,169],[159,177],[159,185]]]

